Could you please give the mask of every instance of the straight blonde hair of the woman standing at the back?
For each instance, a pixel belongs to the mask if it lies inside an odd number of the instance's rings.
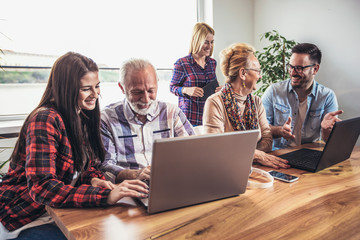
[[[189,53],[199,53],[205,43],[206,36],[209,33],[215,35],[215,31],[212,27],[204,22],[196,23],[193,28]],[[210,56],[212,55],[213,50],[214,48],[211,48]]]

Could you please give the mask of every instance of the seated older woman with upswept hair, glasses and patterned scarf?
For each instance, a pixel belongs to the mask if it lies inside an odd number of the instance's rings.
[[[265,152],[271,151],[272,135],[261,99],[251,93],[261,78],[255,49],[235,43],[221,51],[220,65],[225,76],[221,91],[210,96],[204,106],[205,133],[260,129],[254,162],[273,168],[288,168],[287,161]]]

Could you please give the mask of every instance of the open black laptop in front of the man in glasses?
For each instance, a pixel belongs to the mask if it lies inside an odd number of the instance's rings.
[[[293,168],[317,172],[348,159],[360,134],[360,117],[336,122],[323,151],[299,149],[279,157]]]

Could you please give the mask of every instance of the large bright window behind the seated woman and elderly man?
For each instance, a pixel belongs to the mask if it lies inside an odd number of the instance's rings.
[[[158,98],[176,103],[169,81],[174,62],[188,52],[196,1],[12,0],[2,9],[0,117],[34,109],[52,64],[68,51],[91,57],[101,68],[101,106],[123,97],[117,69],[131,57],[158,68]]]

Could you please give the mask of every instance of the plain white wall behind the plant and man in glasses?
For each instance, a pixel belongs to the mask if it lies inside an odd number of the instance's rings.
[[[212,1],[218,66],[219,52],[229,44],[246,42],[260,50],[267,44],[260,42],[260,35],[278,30],[321,49],[316,80],[335,91],[344,110],[341,118],[360,116],[360,0]],[[223,81],[220,67],[217,76]]]

